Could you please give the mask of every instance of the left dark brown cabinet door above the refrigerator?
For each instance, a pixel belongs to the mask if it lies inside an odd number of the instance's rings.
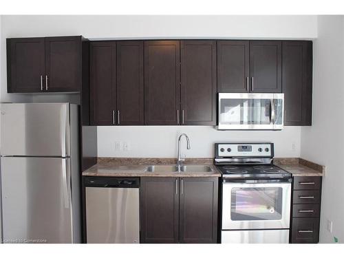
[[[7,39],[8,92],[41,92],[44,38]]]

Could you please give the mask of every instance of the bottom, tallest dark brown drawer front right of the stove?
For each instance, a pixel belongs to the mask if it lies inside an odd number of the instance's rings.
[[[318,243],[319,218],[292,219],[291,243]]]

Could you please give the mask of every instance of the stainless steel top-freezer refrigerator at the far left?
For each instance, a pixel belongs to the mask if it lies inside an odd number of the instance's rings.
[[[81,241],[78,113],[69,103],[1,104],[4,243]]]

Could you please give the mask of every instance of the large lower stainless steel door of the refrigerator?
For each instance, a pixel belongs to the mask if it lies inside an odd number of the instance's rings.
[[[69,158],[1,158],[3,241],[72,243]]]

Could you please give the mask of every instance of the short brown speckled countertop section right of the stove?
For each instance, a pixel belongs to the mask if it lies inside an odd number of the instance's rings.
[[[303,160],[302,158],[275,158],[274,164],[293,176],[323,176],[325,166]]]

